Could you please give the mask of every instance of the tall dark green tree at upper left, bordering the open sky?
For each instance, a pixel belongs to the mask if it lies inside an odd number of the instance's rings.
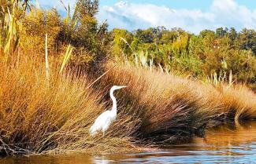
[[[91,61],[102,60],[106,56],[109,43],[107,24],[98,24],[95,14],[98,13],[98,0],[78,0],[74,13],[61,23],[59,40],[75,47],[72,60],[75,64],[84,65]]]

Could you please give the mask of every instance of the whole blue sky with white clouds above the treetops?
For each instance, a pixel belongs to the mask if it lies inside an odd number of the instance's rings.
[[[63,0],[74,4],[74,0]],[[107,20],[109,29],[165,26],[182,27],[198,33],[217,27],[256,28],[255,0],[99,0],[100,22]],[[39,0],[44,7],[63,9],[58,0]]]

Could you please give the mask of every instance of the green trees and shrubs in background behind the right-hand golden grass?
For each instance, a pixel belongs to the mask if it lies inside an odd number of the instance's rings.
[[[254,30],[236,32],[221,27],[216,32],[205,30],[193,35],[180,28],[169,31],[158,27],[134,32],[114,29],[112,35],[113,53],[140,67],[160,67],[200,79],[232,72],[237,82],[256,82]]]

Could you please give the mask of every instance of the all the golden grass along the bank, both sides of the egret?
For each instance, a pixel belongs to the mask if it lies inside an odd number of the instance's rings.
[[[45,60],[36,56],[0,64],[2,155],[139,151],[256,117],[256,97],[244,85],[213,85],[124,64],[107,64],[110,71],[94,83],[69,67],[60,73],[62,64],[52,57],[50,78]],[[111,108],[113,85],[128,85],[115,93],[117,121],[104,137],[90,137],[95,118]]]

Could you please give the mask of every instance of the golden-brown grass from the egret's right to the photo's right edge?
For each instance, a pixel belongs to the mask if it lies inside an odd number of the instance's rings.
[[[128,65],[117,65],[102,79],[106,88],[113,84],[128,85],[119,95],[121,110],[139,118],[138,136],[153,140],[172,141],[225,120],[256,116],[256,97],[243,85],[213,86]]]

